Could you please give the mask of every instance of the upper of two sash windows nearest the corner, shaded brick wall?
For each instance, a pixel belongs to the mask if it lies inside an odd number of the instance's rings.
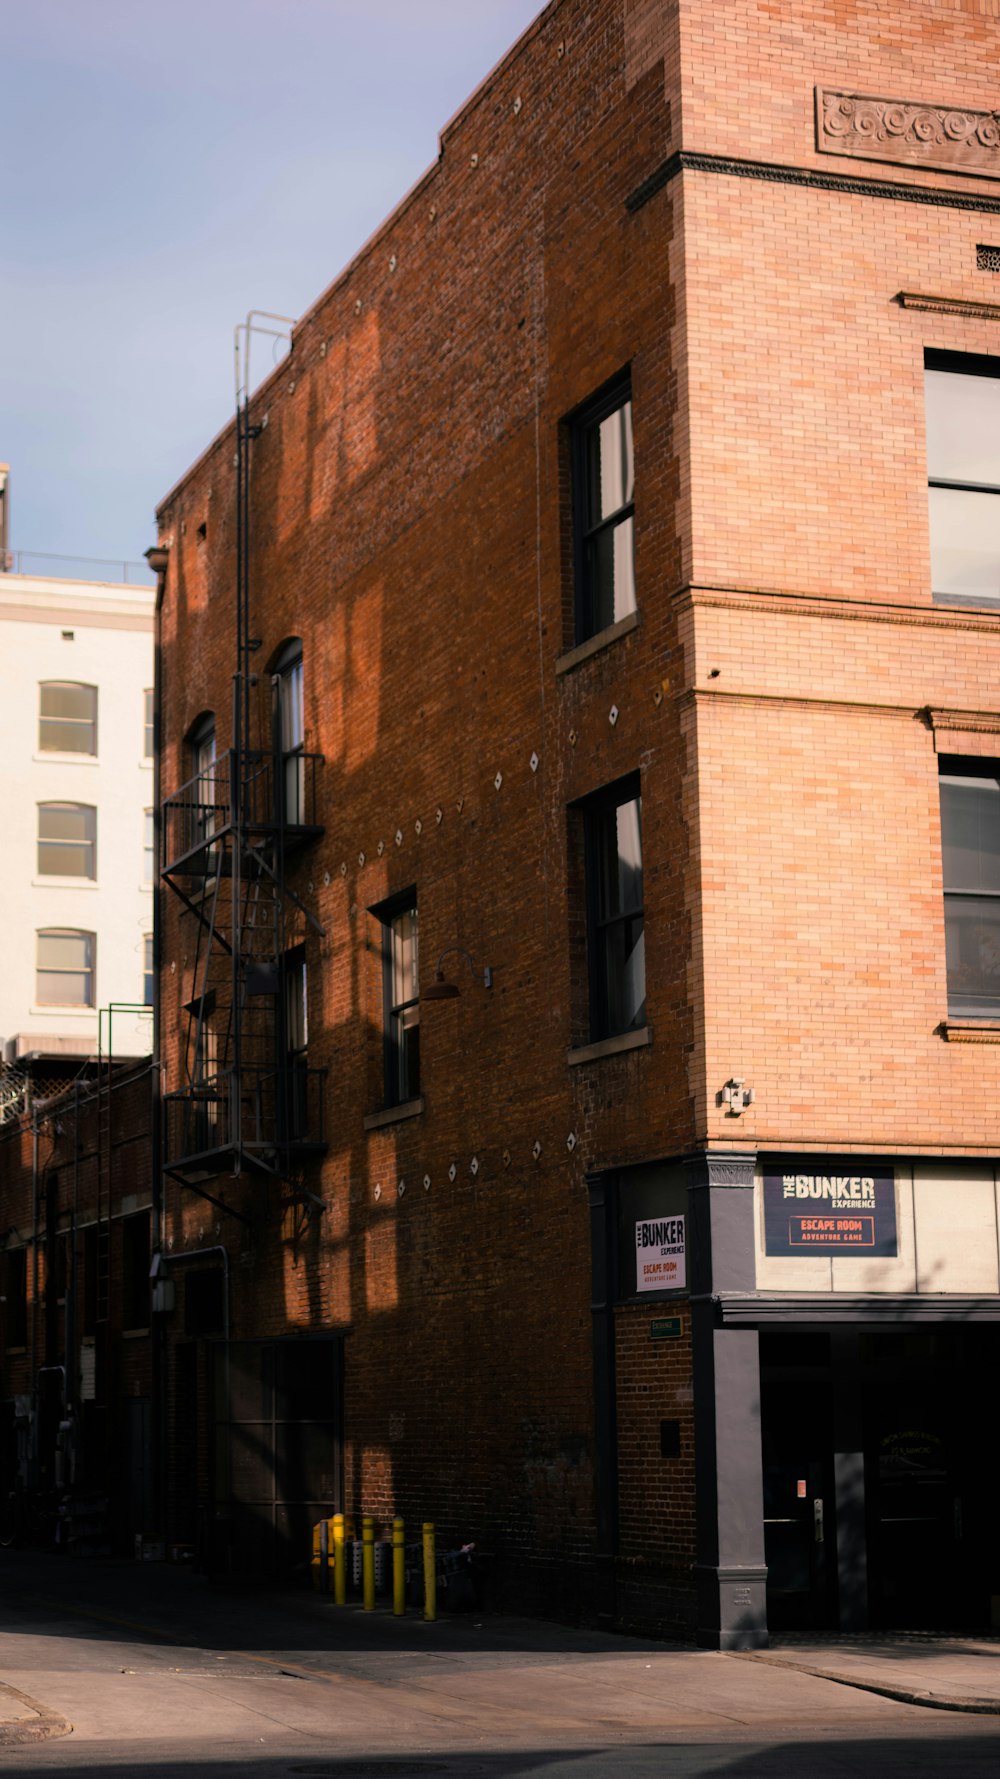
[[[635,610],[632,393],[617,381],[573,420],[577,642]]]

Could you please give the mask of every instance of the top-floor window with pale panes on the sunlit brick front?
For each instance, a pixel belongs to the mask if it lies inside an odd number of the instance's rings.
[[[1000,603],[1000,358],[925,352],[931,585]]]

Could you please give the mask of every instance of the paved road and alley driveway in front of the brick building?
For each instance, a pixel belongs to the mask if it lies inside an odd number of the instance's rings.
[[[363,1617],[12,1551],[0,1553],[0,1770],[62,1779],[1000,1770],[996,1717],[792,1669],[514,1619]],[[25,1724],[44,1740],[20,1740]]]

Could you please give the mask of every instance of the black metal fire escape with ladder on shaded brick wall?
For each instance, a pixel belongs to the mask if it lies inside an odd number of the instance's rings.
[[[251,422],[249,338],[274,333],[256,315],[237,329],[233,745],[164,801],[160,822],[160,875],[189,911],[194,945],[181,1085],[164,1096],[164,1165],[212,1203],[224,1201],[206,1183],[224,1174],[302,1190],[308,1162],[326,1149],[326,1071],[304,1060],[295,962],[306,929],[322,927],[286,884],[288,861],[322,834],[322,756],[285,747],[286,683],[260,683],[253,669],[251,452],[262,429]]]

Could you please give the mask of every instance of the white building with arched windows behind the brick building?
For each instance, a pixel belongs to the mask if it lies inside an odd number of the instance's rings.
[[[151,1048],[153,607],[0,573],[5,1062]]]

